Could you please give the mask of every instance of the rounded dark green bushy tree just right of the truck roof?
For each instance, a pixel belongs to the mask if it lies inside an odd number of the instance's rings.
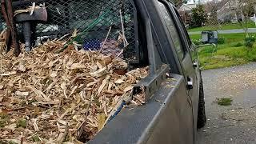
[[[203,26],[206,22],[206,10],[204,10],[202,5],[198,5],[196,8],[192,10],[192,27]]]

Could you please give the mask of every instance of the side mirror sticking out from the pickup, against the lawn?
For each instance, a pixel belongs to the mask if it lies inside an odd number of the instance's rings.
[[[202,31],[202,43],[218,43],[218,31]]]

